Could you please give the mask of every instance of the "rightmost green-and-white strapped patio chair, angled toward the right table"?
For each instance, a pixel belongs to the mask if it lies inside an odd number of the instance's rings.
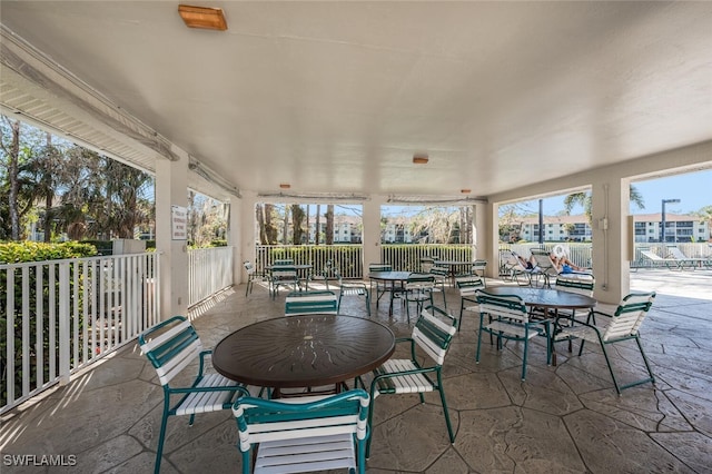
[[[603,350],[603,356],[605,357],[605,363],[609,366],[609,372],[611,373],[611,378],[613,378],[613,385],[615,386],[615,391],[619,393],[619,395],[621,394],[621,391],[625,388],[645,384],[647,382],[652,382],[654,384],[655,377],[653,376],[653,372],[647,362],[647,357],[645,357],[645,353],[643,352],[643,346],[641,345],[640,338],[640,327],[643,324],[645,316],[647,316],[647,313],[653,305],[654,299],[654,292],[630,294],[621,300],[617,308],[615,309],[615,313],[606,314],[599,310],[593,310],[589,314],[589,318],[585,323],[575,322],[574,325],[564,327],[558,333],[554,334],[554,336],[552,337],[552,344],[560,340],[578,338],[581,339],[581,348],[578,349],[580,356],[583,353],[583,346],[586,340],[600,344],[601,349]],[[604,316],[609,318],[607,325],[596,326],[596,316]],[[606,346],[623,343],[630,339],[634,339],[637,348],[640,349],[643,363],[645,364],[645,368],[647,369],[647,377],[621,385],[615,378],[613,365],[611,364],[611,357],[609,356]],[[629,362],[624,362],[624,364],[630,366]]]

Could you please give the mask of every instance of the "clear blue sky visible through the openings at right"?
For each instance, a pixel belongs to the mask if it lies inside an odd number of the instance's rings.
[[[680,199],[680,203],[668,203],[665,213],[689,214],[700,210],[704,206],[712,206],[712,170],[670,176],[665,178],[635,181],[633,186],[643,196],[644,209],[631,206],[631,214],[654,214],[662,210],[663,199]],[[545,198],[544,215],[554,216],[564,209],[564,197]],[[526,201],[532,213],[538,213],[538,199]],[[571,214],[583,214],[577,207]]]

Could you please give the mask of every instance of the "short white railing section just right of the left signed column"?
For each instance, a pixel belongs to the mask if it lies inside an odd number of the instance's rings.
[[[188,307],[231,286],[233,247],[188,250]]]

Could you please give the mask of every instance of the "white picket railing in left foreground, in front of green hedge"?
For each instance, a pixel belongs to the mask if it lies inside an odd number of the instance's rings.
[[[0,413],[159,318],[155,253],[0,265]]]

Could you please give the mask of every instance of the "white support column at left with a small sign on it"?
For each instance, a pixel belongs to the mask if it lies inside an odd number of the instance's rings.
[[[156,251],[160,258],[160,319],[188,310],[188,247],[172,239],[172,206],[188,206],[188,155],[174,147],[178,161],[156,161]]]

